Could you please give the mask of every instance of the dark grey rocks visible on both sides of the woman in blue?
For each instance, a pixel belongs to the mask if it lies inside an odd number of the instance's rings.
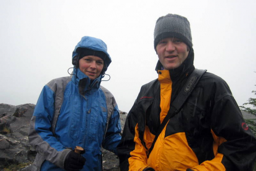
[[[28,141],[30,119],[35,105],[10,105],[0,103],[0,170],[10,165],[28,163],[17,170],[31,170],[36,152]],[[127,113],[120,112],[123,128]],[[103,170],[118,170],[119,160],[113,153],[102,149]],[[9,169],[11,169],[9,167]]]

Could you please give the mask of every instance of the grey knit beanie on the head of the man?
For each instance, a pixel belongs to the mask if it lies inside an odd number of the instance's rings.
[[[160,40],[167,37],[181,39],[189,48],[192,48],[190,24],[187,18],[177,14],[167,14],[157,19],[154,30],[154,48]]]

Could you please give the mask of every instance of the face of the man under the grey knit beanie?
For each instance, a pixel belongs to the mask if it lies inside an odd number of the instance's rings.
[[[175,37],[165,38],[157,44],[157,55],[165,70],[178,68],[187,58],[188,47]]]

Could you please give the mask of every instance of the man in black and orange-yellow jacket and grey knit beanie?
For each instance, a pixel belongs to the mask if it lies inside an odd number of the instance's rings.
[[[154,141],[172,103],[195,70],[187,18],[167,14],[154,31],[158,79],[141,87],[117,147],[120,170],[252,170],[256,139],[228,84],[204,73]]]

